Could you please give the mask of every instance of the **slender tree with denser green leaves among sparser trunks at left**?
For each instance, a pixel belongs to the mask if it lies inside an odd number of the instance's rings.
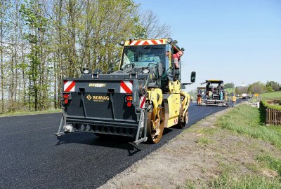
[[[42,109],[44,104],[43,98],[40,94],[46,94],[46,85],[44,81],[44,74],[46,73],[46,55],[44,41],[46,39],[47,20],[42,14],[42,4],[39,0],[26,1],[22,4],[20,12],[27,24],[26,40],[30,46],[30,53],[27,54],[30,60],[29,64],[29,78],[30,91],[29,99],[34,99],[34,110]]]

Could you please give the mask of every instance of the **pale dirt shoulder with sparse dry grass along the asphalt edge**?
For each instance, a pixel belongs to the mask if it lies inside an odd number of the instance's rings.
[[[207,186],[222,172],[261,174],[274,177],[276,172],[259,169],[256,155],[270,153],[280,157],[274,146],[247,136],[233,134],[216,126],[215,113],[178,135],[168,144],[118,174],[105,188],[195,188]]]

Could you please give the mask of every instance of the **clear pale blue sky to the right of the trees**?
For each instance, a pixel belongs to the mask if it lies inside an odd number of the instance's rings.
[[[196,71],[194,90],[206,79],[235,86],[281,83],[281,0],[136,0],[169,24],[185,48],[182,83]],[[184,72],[184,74],[183,74]]]

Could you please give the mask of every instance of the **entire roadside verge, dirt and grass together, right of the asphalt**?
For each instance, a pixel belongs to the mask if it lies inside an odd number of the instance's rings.
[[[208,116],[101,189],[281,188],[281,127],[259,113],[240,104]]]

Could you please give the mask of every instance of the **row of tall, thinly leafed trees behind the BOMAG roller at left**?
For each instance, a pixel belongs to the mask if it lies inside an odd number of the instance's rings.
[[[63,78],[116,68],[122,40],[170,35],[133,0],[0,0],[0,113],[58,109]]]

